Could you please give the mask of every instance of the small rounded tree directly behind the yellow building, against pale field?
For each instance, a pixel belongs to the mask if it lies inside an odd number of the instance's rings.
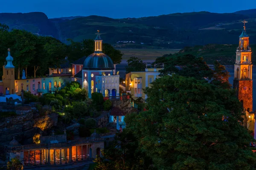
[[[128,66],[125,67],[126,73],[131,71],[145,71],[145,63],[137,57],[130,57],[130,59],[127,60],[127,63]]]

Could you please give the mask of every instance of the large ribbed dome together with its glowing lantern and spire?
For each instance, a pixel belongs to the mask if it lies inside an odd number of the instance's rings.
[[[113,70],[112,59],[102,52],[102,39],[99,36],[99,30],[95,42],[95,50],[84,60],[83,69],[85,70]]]

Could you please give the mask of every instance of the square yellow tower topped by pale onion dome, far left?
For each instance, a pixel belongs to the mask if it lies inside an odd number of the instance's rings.
[[[12,65],[13,58],[8,48],[7,64],[3,65],[3,94],[15,94],[15,66]]]

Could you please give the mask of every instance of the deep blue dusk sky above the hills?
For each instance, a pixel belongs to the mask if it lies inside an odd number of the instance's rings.
[[[1,2],[3,1],[3,2]],[[49,18],[100,15],[147,17],[176,12],[234,12],[256,8],[255,0],[0,0],[2,12],[41,11]]]

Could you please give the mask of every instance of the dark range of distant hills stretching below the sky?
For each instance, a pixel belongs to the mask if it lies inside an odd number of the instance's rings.
[[[235,13],[206,11],[175,13],[156,17],[122,18],[63,17],[48,19],[44,13],[0,13],[0,23],[10,28],[25,29],[35,34],[56,37],[62,42],[93,39],[96,31],[104,42],[116,48],[183,48],[186,46],[237,44],[241,20],[248,20],[247,33],[256,40],[256,20],[253,10]],[[134,43],[135,42],[135,43]]]

